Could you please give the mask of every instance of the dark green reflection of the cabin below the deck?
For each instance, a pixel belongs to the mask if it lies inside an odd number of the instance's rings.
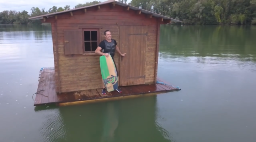
[[[45,109],[38,106],[35,111]],[[42,141],[171,142],[157,122],[156,96],[51,109],[59,111],[46,116]]]

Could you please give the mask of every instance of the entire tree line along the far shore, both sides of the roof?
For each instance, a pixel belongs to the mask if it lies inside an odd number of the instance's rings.
[[[118,1],[127,4],[127,0]],[[77,4],[74,8],[100,2]],[[256,0],[132,0],[128,5],[181,20],[182,24],[256,24]],[[32,7],[30,13],[6,10],[0,12],[0,24],[41,24],[28,18],[68,9],[69,5],[53,6],[48,11]]]

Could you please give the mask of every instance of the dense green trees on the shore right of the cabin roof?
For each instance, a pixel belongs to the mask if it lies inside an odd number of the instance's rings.
[[[256,0],[132,0],[129,4],[183,24],[256,23]]]

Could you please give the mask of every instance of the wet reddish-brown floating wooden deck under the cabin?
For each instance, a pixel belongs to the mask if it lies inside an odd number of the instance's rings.
[[[157,83],[156,85],[134,85],[120,87],[122,93],[117,91],[107,92],[106,95],[101,94],[100,89],[75,91],[70,93],[57,94],[54,83],[54,67],[44,68],[40,70],[39,83],[37,88],[34,106],[56,104],[59,106],[71,105],[85,102],[117,100],[128,97],[139,97],[146,95],[156,95],[170,91],[178,91],[179,88],[174,88],[170,85]],[[158,79],[159,82],[163,82]]]

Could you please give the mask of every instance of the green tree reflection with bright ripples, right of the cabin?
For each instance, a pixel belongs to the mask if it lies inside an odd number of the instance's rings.
[[[159,60],[256,72],[255,26],[162,25]]]

